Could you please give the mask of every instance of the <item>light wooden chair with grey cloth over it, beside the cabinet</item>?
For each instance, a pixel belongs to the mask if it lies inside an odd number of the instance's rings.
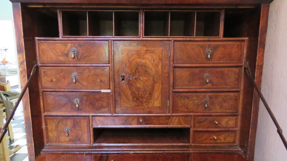
[[[2,91],[10,91],[11,90],[11,86],[10,86],[9,80],[7,80],[7,83],[0,82],[0,90],[2,90]],[[11,101],[17,102],[17,100],[18,99],[13,99]],[[4,112],[5,109],[6,109],[5,105],[3,103],[0,103],[0,118],[6,119],[6,113]],[[4,126],[3,119],[0,119],[0,127]],[[9,140],[13,140],[14,139],[14,135],[13,135],[13,130],[12,130],[11,123],[8,125],[7,131],[8,131],[8,135],[9,135],[7,137],[7,139],[9,138]],[[1,150],[2,155],[0,156],[0,160],[10,161],[10,155],[15,153],[17,150],[19,150],[21,148],[21,146],[20,145],[16,145],[12,150],[9,150],[8,149],[7,140],[3,139],[2,142],[1,142],[1,148],[2,148],[2,150]]]

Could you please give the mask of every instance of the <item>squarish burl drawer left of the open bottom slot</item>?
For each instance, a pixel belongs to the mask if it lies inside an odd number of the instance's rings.
[[[90,145],[89,117],[45,117],[47,144]],[[66,128],[69,128],[68,136]]]

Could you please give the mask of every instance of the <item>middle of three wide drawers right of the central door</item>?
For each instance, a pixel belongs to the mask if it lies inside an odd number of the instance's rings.
[[[173,87],[174,89],[240,88],[242,71],[242,67],[176,67]],[[209,79],[206,74],[209,74]]]

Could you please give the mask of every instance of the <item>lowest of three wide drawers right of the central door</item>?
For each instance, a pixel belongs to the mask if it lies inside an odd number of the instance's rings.
[[[239,99],[239,92],[173,93],[173,113],[237,113]]]

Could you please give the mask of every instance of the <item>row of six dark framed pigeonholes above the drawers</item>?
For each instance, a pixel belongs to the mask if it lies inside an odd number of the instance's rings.
[[[63,37],[140,37],[143,24],[144,37],[220,37],[222,13],[61,10],[61,31]]]

